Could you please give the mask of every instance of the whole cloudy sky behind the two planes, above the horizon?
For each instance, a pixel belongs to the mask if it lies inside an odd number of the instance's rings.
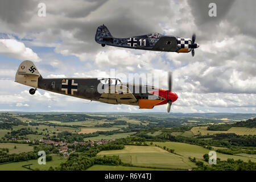
[[[46,17],[38,16],[38,4]],[[210,17],[210,2],[217,16]],[[13,1],[0,0],[0,111],[166,111],[166,106],[108,105],[38,90],[14,82],[22,60],[43,77],[108,77],[158,73],[167,88],[172,71],[179,96],[172,112],[256,113],[256,1]],[[104,23],[116,37],[159,32],[191,38],[191,53],[101,47],[94,41]],[[126,81],[126,80],[125,80]]]

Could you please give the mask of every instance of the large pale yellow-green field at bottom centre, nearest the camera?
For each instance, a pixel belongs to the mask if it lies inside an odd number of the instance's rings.
[[[101,151],[98,155],[119,155],[122,162],[137,167],[167,169],[191,169],[195,167],[195,164],[188,159],[153,146],[125,146],[123,150]]]

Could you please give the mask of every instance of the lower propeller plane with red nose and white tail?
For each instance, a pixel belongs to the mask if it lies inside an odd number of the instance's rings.
[[[100,101],[107,104],[126,104],[152,109],[167,104],[170,112],[177,94],[171,91],[171,73],[168,76],[168,90],[142,84],[122,83],[118,78],[43,78],[32,61],[23,61],[18,68],[15,82],[31,86],[30,94],[37,89],[67,96]]]

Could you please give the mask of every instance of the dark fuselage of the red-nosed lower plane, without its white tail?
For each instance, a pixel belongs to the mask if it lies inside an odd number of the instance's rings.
[[[38,78],[38,88],[72,97],[108,104],[137,105],[152,109],[177,100],[168,90],[141,84],[122,83],[115,78]]]

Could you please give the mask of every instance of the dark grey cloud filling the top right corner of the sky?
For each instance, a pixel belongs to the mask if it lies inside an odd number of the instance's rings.
[[[255,38],[255,5],[256,1],[238,0],[197,0],[187,1],[191,7],[191,13],[195,24],[200,31],[200,40],[224,39],[225,36],[245,34]],[[217,16],[210,17],[209,3],[216,3]],[[221,24],[222,23],[222,24]],[[225,24],[225,30],[220,29]]]

